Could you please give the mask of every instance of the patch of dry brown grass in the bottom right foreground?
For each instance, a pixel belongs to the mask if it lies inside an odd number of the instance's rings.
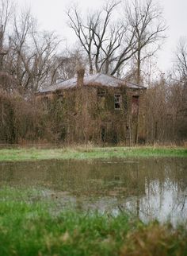
[[[130,232],[121,248],[120,256],[165,256],[186,255],[185,240],[180,230],[174,231],[170,225],[153,223]]]

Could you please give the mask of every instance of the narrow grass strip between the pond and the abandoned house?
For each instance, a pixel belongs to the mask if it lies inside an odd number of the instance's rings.
[[[187,157],[182,147],[72,147],[63,149],[0,149],[0,161],[97,159],[111,157]]]

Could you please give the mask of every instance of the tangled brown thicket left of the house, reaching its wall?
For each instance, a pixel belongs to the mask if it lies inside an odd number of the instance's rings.
[[[0,142],[59,142],[62,140],[61,102],[53,100],[48,110],[44,103],[20,94],[0,92]]]

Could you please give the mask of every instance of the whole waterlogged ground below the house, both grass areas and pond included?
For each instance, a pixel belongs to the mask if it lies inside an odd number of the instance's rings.
[[[0,152],[0,255],[187,254],[185,148]]]

